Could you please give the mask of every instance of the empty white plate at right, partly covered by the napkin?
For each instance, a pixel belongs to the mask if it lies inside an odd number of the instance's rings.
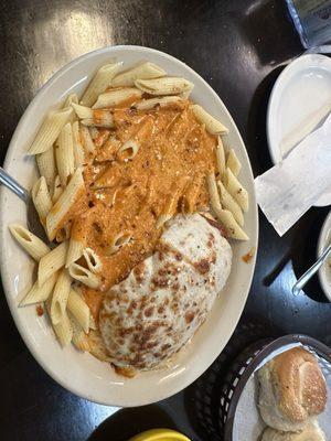
[[[331,110],[331,58],[320,54],[302,55],[281,72],[267,112],[267,138],[274,164],[288,153],[287,149],[281,151],[284,139],[325,103]],[[331,205],[331,189],[314,205]]]

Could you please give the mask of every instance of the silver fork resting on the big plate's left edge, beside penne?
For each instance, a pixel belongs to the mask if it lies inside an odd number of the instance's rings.
[[[45,230],[39,219],[39,215],[32,202],[32,197],[30,192],[24,189],[21,184],[18,183],[10,174],[8,174],[1,166],[0,166],[0,183],[7,186],[12,193],[22,200],[26,205],[26,224],[28,228],[31,233],[38,236],[40,239],[44,240],[46,244],[49,239],[46,237]]]

